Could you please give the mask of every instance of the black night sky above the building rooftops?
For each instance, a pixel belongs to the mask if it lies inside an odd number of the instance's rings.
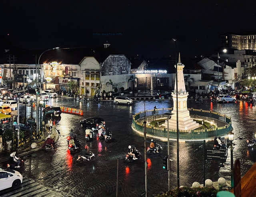
[[[255,5],[254,0],[1,0],[0,35],[27,50],[108,41],[139,58],[174,58],[176,38],[181,56],[204,56],[220,46],[220,34],[254,31]]]

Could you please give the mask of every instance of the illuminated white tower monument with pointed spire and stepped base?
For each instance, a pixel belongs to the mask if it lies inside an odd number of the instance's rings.
[[[189,114],[187,108],[187,100],[188,100],[188,92],[186,92],[184,76],[183,76],[183,68],[184,64],[180,63],[180,54],[179,54],[179,62],[177,65],[178,70],[178,124],[179,130],[192,130],[199,127],[199,123],[196,123]],[[175,65],[176,68],[176,65]],[[175,80],[175,88],[172,93],[173,96],[173,110],[172,117],[169,119],[169,129],[177,129],[177,97],[176,97],[176,80]],[[162,124],[167,128],[167,120],[164,124]]]

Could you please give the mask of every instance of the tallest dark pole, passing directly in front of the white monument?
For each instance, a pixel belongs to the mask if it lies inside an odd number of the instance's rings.
[[[178,63],[177,63],[177,45],[176,40],[173,38],[175,42],[175,64],[176,64],[176,110],[177,110],[177,186],[180,187],[180,156],[179,156],[179,115],[178,115]]]

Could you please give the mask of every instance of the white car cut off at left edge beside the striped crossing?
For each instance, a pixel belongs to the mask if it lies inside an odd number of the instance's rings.
[[[15,170],[3,170],[0,168],[0,190],[13,187],[16,188],[22,183],[22,175]]]

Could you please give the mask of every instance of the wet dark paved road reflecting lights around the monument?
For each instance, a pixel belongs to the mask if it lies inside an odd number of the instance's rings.
[[[34,184],[40,184],[46,189],[56,191],[60,196],[114,197],[116,196],[116,168],[119,158],[118,196],[140,196],[145,190],[144,160],[126,163],[124,158],[128,151],[128,145],[135,145],[142,155],[144,153],[143,136],[134,133],[131,129],[132,115],[144,110],[144,101],[135,101],[132,105],[127,106],[116,105],[112,101],[101,101],[100,103],[89,101],[89,103],[84,104],[73,99],[52,98],[48,104],[80,108],[83,110],[84,116],[62,114],[55,117],[58,121],[57,129],[60,129],[62,135],[58,142],[58,149],[48,153],[40,150],[26,156],[24,158],[25,167],[20,169],[25,175],[24,179],[34,180]],[[172,101],[146,101],[146,109],[153,109],[154,105],[157,108],[167,108],[172,107],[173,104]],[[244,175],[256,161],[256,149],[248,148],[246,145],[247,135],[255,131],[256,106],[245,101],[212,103],[210,100],[204,100],[201,104],[189,100],[188,107],[211,109],[232,117],[234,143],[236,144],[234,160],[240,159],[241,174]],[[21,107],[22,109],[24,107]],[[92,116],[100,116],[105,119],[106,127],[109,127],[113,133],[114,141],[106,143],[104,140],[99,140],[94,133],[94,140],[89,143],[85,142],[84,128],[80,127],[79,121]],[[92,161],[77,163],[78,153],[70,154],[67,151],[66,136],[70,129],[77,133],[82,147],[88,145],[89,150],[95,154]],[[242,139],[238,139],[238,137]],[[159,155],[148,156],[147,159],[149,196],[161,191],[166,192],[168,189],[167,171],[162,169],[162,159],[167,155],[167,142],[159,142],[164,148],[163,152]],[[149,145],[149,143],[150,138],[147,139],[147,144]],[[194,153],[194,148],[201,144],[202,142],[180,143],[180,185],[191,186],[194,181],[203,183],[203,153],[202,151]],[[209,148],[212,147],[212,144],[213,141],[207,142]],[[174,160],[171,185],[176,187],[176,141],[170,142],[170,154]],[[230,180],[229,162],[230,152],[224,167],[220,167],[219,161],[207,161],[206,179],[217,181],[219,177],[224,177]],[[21,190],[20,196],[22,196],[22,192],[26,191],[26,187],[24,186]],[[14,193],[11,189],[0,191],[0,195],[2,192],[6,195]],[[54,193],[53,196],[57,194]]]

